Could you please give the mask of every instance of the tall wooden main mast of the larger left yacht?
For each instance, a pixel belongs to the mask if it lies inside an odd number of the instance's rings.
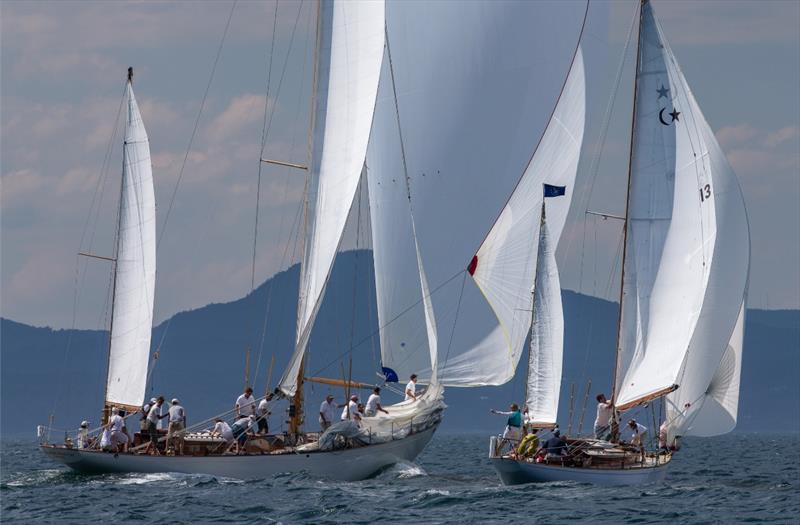
[[[317,34],[314,43],[314,72],[311,79],[311,118],[308,126],[308,166],[306,170],[306,183],[305,191],[303,191],[303,252],[300,258],[300,295],[303,294],[303,268],[306,264],[306,249],[308,241],[308,194],[311,189],[312,177],[312,162],[314,156],[314,128],[316,124],[316,99],[317,99],[317,76],[319,70],[319,47],[321,37],[321,24],[322,24],[322,1],[317,2]],[[298,311],[298,323],[299,323]],[[300,361],[300,368],[297,372],[297,390],[292,397],[292,402],[289,406],[289,434],[297,436],[300,433],[300,427],[303,424],[303,376],[305,373],[305,357]]]

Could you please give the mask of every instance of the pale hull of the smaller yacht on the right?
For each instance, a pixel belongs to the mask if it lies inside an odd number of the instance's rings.
[[[491,458],[491,461],[504,485],[550,481],[577,481],[595,485],[645,485],[663,481],[669,466],[667,462],[652,467],[600,469],[562,467],[510,458]]]

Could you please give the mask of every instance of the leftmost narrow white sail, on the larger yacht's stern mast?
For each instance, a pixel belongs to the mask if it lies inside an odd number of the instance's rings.
[[[156,280],[156,205],[150,144],[128,83],[116,278],[106,403],[141,406]]]

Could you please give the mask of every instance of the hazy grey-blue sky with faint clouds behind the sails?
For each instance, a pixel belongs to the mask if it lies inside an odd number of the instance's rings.
[[[76,253],[113,253],[121,166],[114,130],[128,66],[156,181],[156,321],[250,291],[265,104],[274,116],[264,156],[306,163],[315,9],[310,1],[238,2],[209,85],[232,6],[0,3],[0,315],[106,326],[108,263]],[[588,155],[633,7],[598,3],[590,11],[584,45],[602,48],[605,61],[587,64],[592,115],[576,189],[584,191],[559,246],[562,286],[606,298],[616,295],[619,231],[584,211],[619,212],[623,203],[609,184],[585,191]],[[655,8],[743,188],[749,306],[800,308],[800,4],[664,1]],[[621,85],[629,88],[630,78]],[[600,176],[625,168],[627,88],[618,93]],[[304,182],[298,170],[261,168],[256,285],[298,260]],[[350,235],[346,247],[353,245]]]

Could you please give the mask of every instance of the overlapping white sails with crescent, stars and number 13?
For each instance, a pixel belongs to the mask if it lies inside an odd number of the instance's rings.
[[[642,5],[615,404],[708,388],[741,310],[741,190],[649,2]],[[690,391],[692,393],[690,393]]]

